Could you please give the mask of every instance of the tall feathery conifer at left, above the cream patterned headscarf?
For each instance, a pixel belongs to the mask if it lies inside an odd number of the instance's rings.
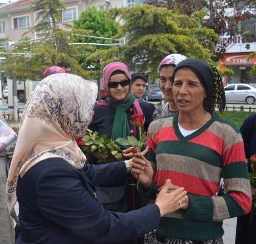
[[[5,65],[7,74],[16,76],[18,80],[36,80],[49,66],[66,61],[71,64],[74,74],[90,78],[90,72],[84,70],[78,60],[80,56],[91,53],[92,47],[72,44],[75,41],[74,34],[88,34],[88,32],[61,30],[59,28],[60,11],[64,8],[60,0],[39,0],[32,6],[31,10],[37,11],[37,24],[30,31],[39,32],[46,38],[37,42],[15,45]],[[17,55],[15,54],[17,52],[26,53],[26,55]]]

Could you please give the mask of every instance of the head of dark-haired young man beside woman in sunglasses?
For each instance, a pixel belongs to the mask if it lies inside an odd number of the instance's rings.
[[[144,101],[142,96],[146,92],[146,84],[148,80],[144,74],[134,73],[132,74],[132,93],[138,100]]]

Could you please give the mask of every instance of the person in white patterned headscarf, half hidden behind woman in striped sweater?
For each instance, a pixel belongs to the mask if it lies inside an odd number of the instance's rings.
[[[164,100],[167,102],[156,108],[153,120],[178,111],[172,95],[172,74],[175,66],[186,58],[182,54],[170,54],[160,62],[157,69],[160,78],[159,87],[164,94]]]

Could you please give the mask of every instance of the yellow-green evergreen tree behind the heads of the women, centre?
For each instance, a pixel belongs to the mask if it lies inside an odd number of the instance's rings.
[[[198,16],[205,11],[186,16],[142,5],[112,9],[110,14],[123,20],[119,35],[126,36],[127,42],[122,48],[100,50],[89,57],[102,58],[102,66],[111,61],[123,61],[129,66],[142,63],[142,70],[154,73],[162,58],[171,53],[205,60],[214,56],[211,50],[219,36],[214,30],[202,28]]]

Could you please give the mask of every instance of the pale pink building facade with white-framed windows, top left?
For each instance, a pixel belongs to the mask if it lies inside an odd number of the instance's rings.
[[[40,33],[28,32],[36,24],[36,13],[31,12],[30,7],[36,0],[19,0],[14,3],[0,3],[0,43],[4,44],[7,40],[17,41],[25,34],[31,39],[41,37]],[[142,4],[143,0],[62,0],[66,10],[60,10],[63,24],[72,24],[77,20],[81,12],[91,6],[96,6],[102,10],[110,8],[131,7]]]

